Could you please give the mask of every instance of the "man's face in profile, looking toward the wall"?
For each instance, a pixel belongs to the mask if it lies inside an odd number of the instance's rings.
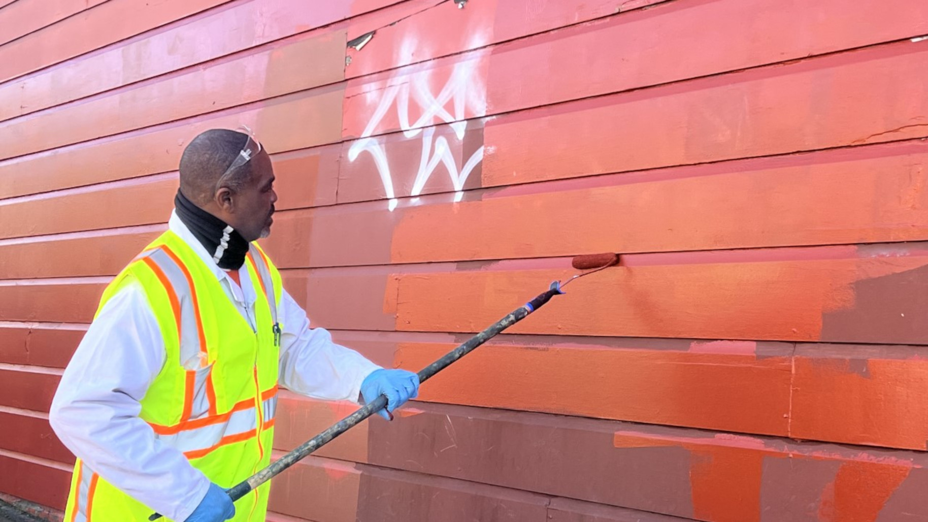
[[[249,242],[266,238],[271,233],[271,215],[274,214],[274,203],[277,202],[271,157],[262,150],[251,161],[253,170],[249,183],[233,196],[235,222],[227,221]]]

